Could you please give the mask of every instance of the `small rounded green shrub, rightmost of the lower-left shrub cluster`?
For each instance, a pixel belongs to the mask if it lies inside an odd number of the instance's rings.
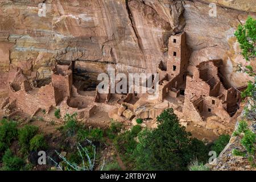
[[[46,139],[44,139],[44,135],[42,134],[38,134],[35,135],[35,137],[33,137],[30,140],[30,151],[39,151],[39,150],[44,150],[47,148],[47,143],[46,143]]]

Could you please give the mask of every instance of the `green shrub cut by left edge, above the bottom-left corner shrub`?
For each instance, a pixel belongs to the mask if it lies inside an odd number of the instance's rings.
[[[11,144],[11,142],[18,136],[16,129],[17,123],[8,121],[7,119],[1,120],[0,125],[0,153],[4,152]]]

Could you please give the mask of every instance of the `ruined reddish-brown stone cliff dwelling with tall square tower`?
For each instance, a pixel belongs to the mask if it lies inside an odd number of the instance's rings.
[[[109,93],[100,94],[97,73],[77,68],[76,61],[60,60],[52,67],[50,82],[30,82],[20,67],[11,70],[8,97],[1,109],[9,115],[22,112],[34,116],[42,110],[51,113],[59,108],[63,117],[66,113],[77,113],[79,119],[89,119],[102,110],[109,113],[109,118],[131,122],[134,117],[154,120],[174,105],[181,118],[205,127],[213,122],[209,118],[215,116],[221,126],[225,122],[228,128],[240,107],[240,91],[245,86],[234,88],[221,81],[222,60],[204,61],[196,65],[191,75],[187,71],[191,49],[185,36],[185,32],[181,32],[169,38],[166,60],[160,60],[158,65],[156,100],[148,101],[147,93],[117,94],[110,93],[110,89]],[[162,102],[162,106],[151,109],[152,105]]]

